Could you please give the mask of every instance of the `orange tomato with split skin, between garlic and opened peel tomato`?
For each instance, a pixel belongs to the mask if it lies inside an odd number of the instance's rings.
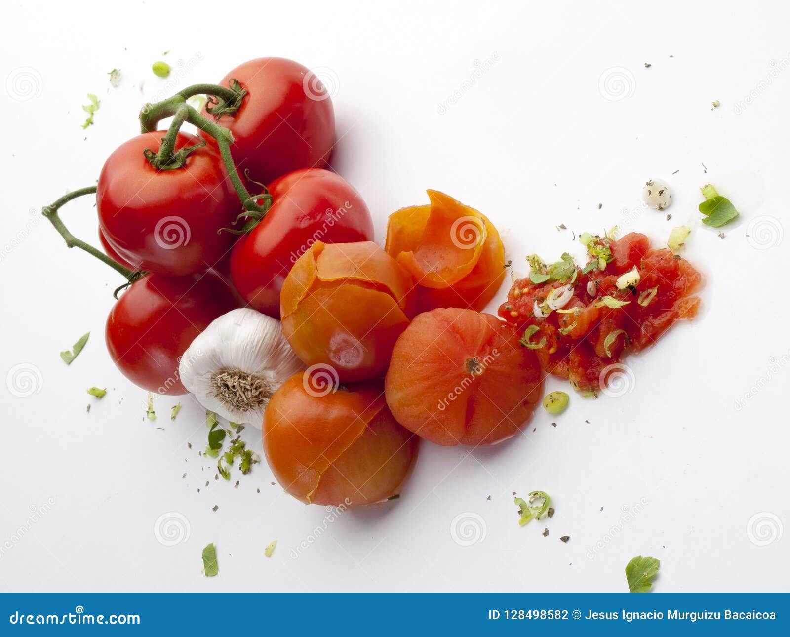
[[[414,314],[413,287],[371,241],[318,241],[284,281],[283,334],[307,366],[329,365],[344,383],[378,378]]]

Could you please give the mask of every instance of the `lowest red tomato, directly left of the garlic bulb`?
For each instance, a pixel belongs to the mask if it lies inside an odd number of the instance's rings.
[[[179,360],[216,317],[239,307],[213,273],[147,274],[122,293],[107,317],[107,350],[127,379],[157,394],[186,394]]]

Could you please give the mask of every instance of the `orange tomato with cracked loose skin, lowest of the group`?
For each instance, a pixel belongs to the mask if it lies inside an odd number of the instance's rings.
[[[396,495],[418,443],[389,413],[380,380],[338,388],[300,372],[277,390],[263,420],[274,476],[307,504],[355,506]]]

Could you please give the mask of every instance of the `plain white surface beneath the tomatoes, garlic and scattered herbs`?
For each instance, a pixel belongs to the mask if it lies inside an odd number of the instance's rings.
[[[617,591],[638,554],[661,560],[655,590],[788,590],[787,3],[487,4],[6,4],[0,590]],[[168,49],[161,80],[150,67]],[[685,254],[706,277],[698,319],[628,359],[620,398],[574,395],[500,447],[423,445],[393,503],[327,524],[323,507],[270,484],[265,463],[213,481],[194,399],[171,423],[177,399],[158,398],[159,419],[144,420],[145,391],[107,356],[119,277],[68,251],[39,211],[94,183],[145,100],[264,55],[331,86],[333,168],[367,200],[379,242],[387,214],[426,202],[427,188],[490,217],[522,271],[533,251],[581,258],[571,230],[620,224],[663,244],[689,224]],[[83,131],[87,92],[101,107]],[[674,192],[672,221],[641,205],[656,177]],[[724,239],[697,212],[708,182],[741,212]],[[87,199],[62,217],[95,238]],[[67,367],[58,352],[88,330]],[[102,401],[85,394],[93,385],[107,386]],[[244,436],[261,450],[256,430]],[[521,528],[511,492],[533,489],[556,514]],[[172,512],[187,522],[167,546],[155,526]],[[461,514],[472,522],[451,531]],[[453,539],[465,532],[472,545]],[[209,541],[213,579],[201,575]]]

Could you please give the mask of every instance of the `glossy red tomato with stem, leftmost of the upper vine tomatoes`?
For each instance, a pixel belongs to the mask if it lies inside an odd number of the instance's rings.
[[[130,139],[107,158],[96,191],[101,232],[124,261],[142,270],[202,272],[229,253],[235,236],[217,230],[229,227],[242,205],[219,153],[209,146],[190,153],[183,168],[153,168],[143,150],[158,150],[164,134]],[[175,148],[200,141],[179,133]]]

